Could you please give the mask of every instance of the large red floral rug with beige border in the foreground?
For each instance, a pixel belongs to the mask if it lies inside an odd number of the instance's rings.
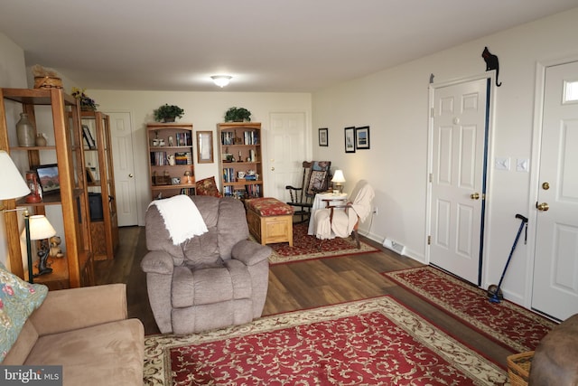
[[[146,385],[504,385],[497,364],[391,297],[144,339]]]

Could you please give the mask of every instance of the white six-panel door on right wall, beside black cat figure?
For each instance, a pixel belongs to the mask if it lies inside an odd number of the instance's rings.
[[[480,285],[488,80],[433,89],[430,263]]]

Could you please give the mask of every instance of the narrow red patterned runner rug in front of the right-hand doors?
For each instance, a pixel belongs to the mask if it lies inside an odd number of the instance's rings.
[[[384,275],[514,353],[535,350],[540,340],[555,326],[549,319],[507,300],[491,303],[486,290],[454,278],[441,269],[426,266]]]

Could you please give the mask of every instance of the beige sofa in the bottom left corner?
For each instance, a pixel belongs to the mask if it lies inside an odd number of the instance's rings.
[[[142,385],[144,328],[126,285],[50,291],[2,364],[62,365],[64,385]]]

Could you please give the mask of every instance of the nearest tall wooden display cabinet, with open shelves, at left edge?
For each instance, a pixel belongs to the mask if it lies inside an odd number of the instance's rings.
[[[18,146],[15,126],[8,127],[7,103],[20,105],[28,114],[34,130],[46,133],[46,146]],[[42,119],[38,119],[42,117]],[[42,126],[39,127],[37,122]],[[34,133],[35,135],[36,133]],[[52,261],[50,274],[34,278],[51,289],[90,286],[94,282],[89,238],[89,208],[84,155],[80,142],[80,111],[77,100],[62,89],[0,89],[0,148],[8,152],[21,173],[36,166],[57,164],[59,189],[43,194],[42,202],[24,199],[6,200],[5,209],[27,207],[31,214],[46,214],[64,240],[64,257]],[[11,270],[21,278],[24,272],[18,216],[22,212],[5,212],[6,238]],[[51,258],[52,259],[52,258]],[[50,261],[49,261],[50,262]]]

